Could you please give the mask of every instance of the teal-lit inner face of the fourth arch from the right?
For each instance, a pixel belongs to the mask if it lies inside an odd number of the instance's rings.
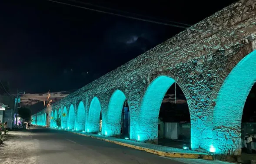
[[[97,97],[94,97],[91,101],[88,120],[86,121],[87,132],[98,132],[100,131],[100,101]]]

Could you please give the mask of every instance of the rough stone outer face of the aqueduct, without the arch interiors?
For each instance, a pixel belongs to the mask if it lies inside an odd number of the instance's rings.
[[[177,82],[187,98],[192,149],[209,151],[214,139],[213,109],[219,89],[229,72],[248,54],[244,49],[253,51],[255,5],[256,0],[233,3],[43,111],[63,110],[66,106],[69,112],[73,104],[76,112],[82,101],[87,119],[90,102],[97,97],[104,125],[110,97],[119,89],[126,96],[130,108],[130,139],[138,140],[135,125],[141,114],[140,103],[147,86],[156,77],[167,75]],[[154,127],[150,123],[140,122],[149,128]],[[154,138],[157,138],[157,134],[152,134],[148,139]]]

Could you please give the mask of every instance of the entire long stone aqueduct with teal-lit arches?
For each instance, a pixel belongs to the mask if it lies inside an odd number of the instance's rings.
[[[46,125],[51,116],[66,113],[62,127],[98,132],[102,112],[102,134],[114,136],[120,134],[121,111],[127,100],[130,139],[154,141],[161,102],[176,82],[190,110],[191,148],[239,155],[243,106],[256,82],[255,36],[256,0],[240,0],[33,118],[37,125]]]

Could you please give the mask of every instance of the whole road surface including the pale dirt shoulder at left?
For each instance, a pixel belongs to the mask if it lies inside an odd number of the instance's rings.
[[[19,136],[15,138],[14,136]],[[2,164],[206,164],[213,161],[171,159],[118,144],[49,128],[10,132]],[[13,147],[13,149],[11,149]],[[9,151],[8,151],[9,150]],[[222,163],[222,162],[217,162]]]

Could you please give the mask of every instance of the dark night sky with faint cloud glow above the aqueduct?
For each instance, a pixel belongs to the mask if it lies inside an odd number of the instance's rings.
[[[234,0],[83,2],[156,17],[164,23],[195,24]],[[10,82],[11,93],[17,88],[30,93],[79,89],[183,30],[47,0],[1,0],[0,79]]]

